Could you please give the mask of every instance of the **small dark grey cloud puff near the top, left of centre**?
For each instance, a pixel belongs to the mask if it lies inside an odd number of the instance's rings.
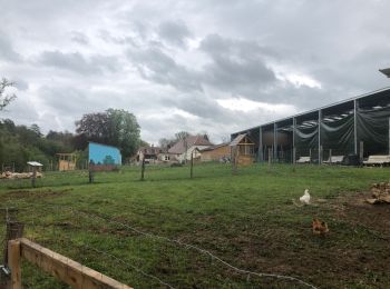
[[[162,22],[158,27],[158,34],[167,42],[181,47],[184,47],[186,39],[192,36],[182,20]]]

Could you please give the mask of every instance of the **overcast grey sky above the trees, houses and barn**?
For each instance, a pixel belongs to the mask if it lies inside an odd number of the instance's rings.
[[[386,0],[0,0],[1,118],[75,130],[133,112],[143,139],[231,132],[388,87]]]

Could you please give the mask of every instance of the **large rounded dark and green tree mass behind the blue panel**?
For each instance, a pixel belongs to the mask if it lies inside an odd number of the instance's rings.
[[[84,114],[76,126],[76,132],[88,140],[120,148],[124,159],[131,157],[140,143],[136,117],[123,109]]]

